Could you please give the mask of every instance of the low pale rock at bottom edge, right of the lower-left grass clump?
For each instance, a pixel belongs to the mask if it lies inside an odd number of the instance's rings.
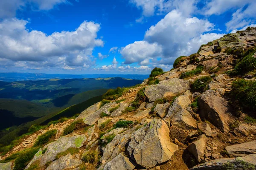
[[[82,164],[80,159],[73,159],[69,153],[66,156],[60,157],[58,160],[53,161],[46,170],[64,170],[75,168]]]

